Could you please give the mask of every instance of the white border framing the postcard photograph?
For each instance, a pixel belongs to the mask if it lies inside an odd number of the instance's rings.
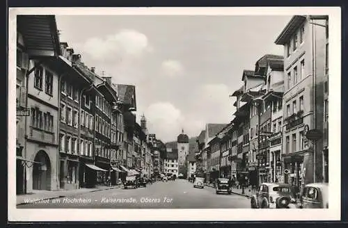
[[[251,8],[10,8],[8,88],[15,88],[16,15],[329,15],[329,209],[16,209],[15,97],[8,89],[8,220],[9,221],[263,221],[340,220],[340,81],[341,10],[339,7]],[[280,33],[280,31],[279,31]],[[276,34],[275,34],[276,35]],[[97,213],[100,211],[101,213]]]

